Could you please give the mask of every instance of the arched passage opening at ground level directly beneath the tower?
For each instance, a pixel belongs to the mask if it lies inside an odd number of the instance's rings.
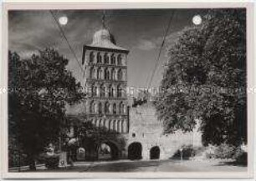
[[[101,143],[98,148],[99,160],[113,160],[118,158],[118,148],[114,143]]]

